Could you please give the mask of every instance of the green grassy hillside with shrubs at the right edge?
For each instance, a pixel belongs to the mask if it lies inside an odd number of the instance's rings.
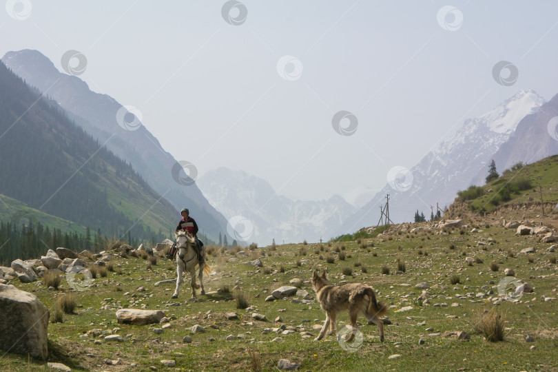
[[[491,191],[490,191],[491,190]],[[558,203],[558,155],[537,163],[514,165],[484,186],[471,186],[457,193],[458,201],[471,210],[488,213],[505,205]],[[549,211],[550,212],[550,211]]]

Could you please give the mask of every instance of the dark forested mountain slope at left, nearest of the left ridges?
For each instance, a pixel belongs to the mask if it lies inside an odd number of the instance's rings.
[[[174,226],[167,200],[3,63],[0,174],[1,194],[108,236],[164,238]]]

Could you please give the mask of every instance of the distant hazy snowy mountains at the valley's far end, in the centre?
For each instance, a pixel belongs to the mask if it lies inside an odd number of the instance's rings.
[[[341,196],[302,201],[277,195],[267,181],[243,171],[220,167],[198,178],[198,187],[229,220],[227,231],[238,242],[269,245],[327,240],[355,207]]]

